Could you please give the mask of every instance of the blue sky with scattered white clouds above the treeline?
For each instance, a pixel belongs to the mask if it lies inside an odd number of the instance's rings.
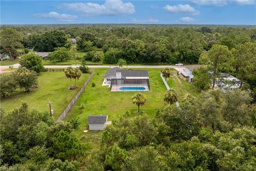
[[[141,23],[256,25],[256,0],[2,1],[1,25]]]

